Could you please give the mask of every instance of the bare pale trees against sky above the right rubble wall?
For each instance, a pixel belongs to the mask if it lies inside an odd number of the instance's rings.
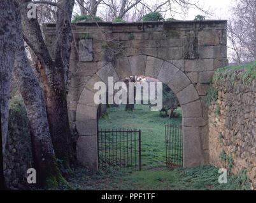
[[[256,0],[237,1],[228,22],[227,38],[232,62],[256,60]]]

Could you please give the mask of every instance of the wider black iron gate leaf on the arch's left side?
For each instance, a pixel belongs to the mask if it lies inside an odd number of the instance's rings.
[[[138,168],[141,171],[141,130],[98,131],[99,169]]]

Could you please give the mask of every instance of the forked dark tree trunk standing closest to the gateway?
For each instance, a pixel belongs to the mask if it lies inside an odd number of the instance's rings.
[[[22,0],[22,3],[28,0]],[[58,159],[69,167],[71,158],[71,131],[68,120],[66,86],[72,41],[71,15],[75,1],[60,0],[57,8],[55,61],[52,60],[41,34],[38,20],[27,18],[22,13],[22,30],[26,43],[38,57],[46,102],[46,112],[53,147]]]

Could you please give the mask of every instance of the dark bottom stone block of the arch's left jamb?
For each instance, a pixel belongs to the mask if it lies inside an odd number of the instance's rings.
[[[76,158],[82,166],[98,170],[97,136],[80,136],[76,142]]]

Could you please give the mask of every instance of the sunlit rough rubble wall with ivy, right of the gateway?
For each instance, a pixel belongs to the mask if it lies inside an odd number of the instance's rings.
[[[209,109],[210,164],[232,174],[246,171],[256,188],[256,81],[245,70],[226,71],[214,81],[218,99]]]

